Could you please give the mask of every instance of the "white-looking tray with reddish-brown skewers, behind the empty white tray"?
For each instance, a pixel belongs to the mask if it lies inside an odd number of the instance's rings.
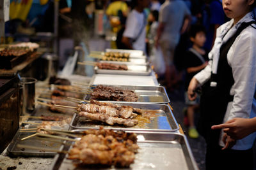
[[[78,64],[94,66],[94,71],[97,74],[124,74],[124,75],[137,75],[148,76],[152,73],[149,64],[116,64],[111,62],[78,62]]]

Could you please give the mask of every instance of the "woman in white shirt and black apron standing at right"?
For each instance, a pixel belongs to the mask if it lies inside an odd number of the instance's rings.
[[[256,117],[255,0],[222,4],[232,19],[217,29],[209,64],[192,78],[188,95],[195,99],[195,89],[203,85],[198,130],[207,143],[206,169],[253,169],[255,132],[235,140],[211,129],[233,118]]]

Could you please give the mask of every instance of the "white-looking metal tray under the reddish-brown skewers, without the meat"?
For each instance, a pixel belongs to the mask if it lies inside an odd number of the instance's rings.
[[[128,70],[113,70],[113,69],[99,69],[95,66],[94,71],[97,74],[124,74],[124,75],[136,75],[136,76],[148,76],[151,74],[152,69],[149,65],[134,65],[126,64]]]

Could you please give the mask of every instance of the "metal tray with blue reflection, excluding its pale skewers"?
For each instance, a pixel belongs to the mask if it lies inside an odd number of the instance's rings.
[[[93,122],[86,120],[83,117],[79,117],[78,114],[74,114],[71,120],[70,127],[74,129],[99,129],[100,126],[106,129],[115,129],[123,131],[155,131],[155,132],[174,132],[179,130],[179,125],[173,116],[170,106],[166,104],[150,104],[150,103],[115,103],[120,106],[132,106],[134,108],[140,108],[143,110],[155,110],[156,117],[150,118],[149,121],[143,122],[143,119],[139,119],[139,124],[133,127],[125,127],[124,125],[108,125],[101,122]],[[154,114],[154,113],[153,113]],[[142,121],[142,122],[140,122]]]

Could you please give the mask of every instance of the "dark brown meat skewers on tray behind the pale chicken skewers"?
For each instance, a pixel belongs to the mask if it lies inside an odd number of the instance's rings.
[[[138,101],[138,96],[132,90],[123,90],[118,87],[97,85],[91,94],[92,99],[102,101]]]

